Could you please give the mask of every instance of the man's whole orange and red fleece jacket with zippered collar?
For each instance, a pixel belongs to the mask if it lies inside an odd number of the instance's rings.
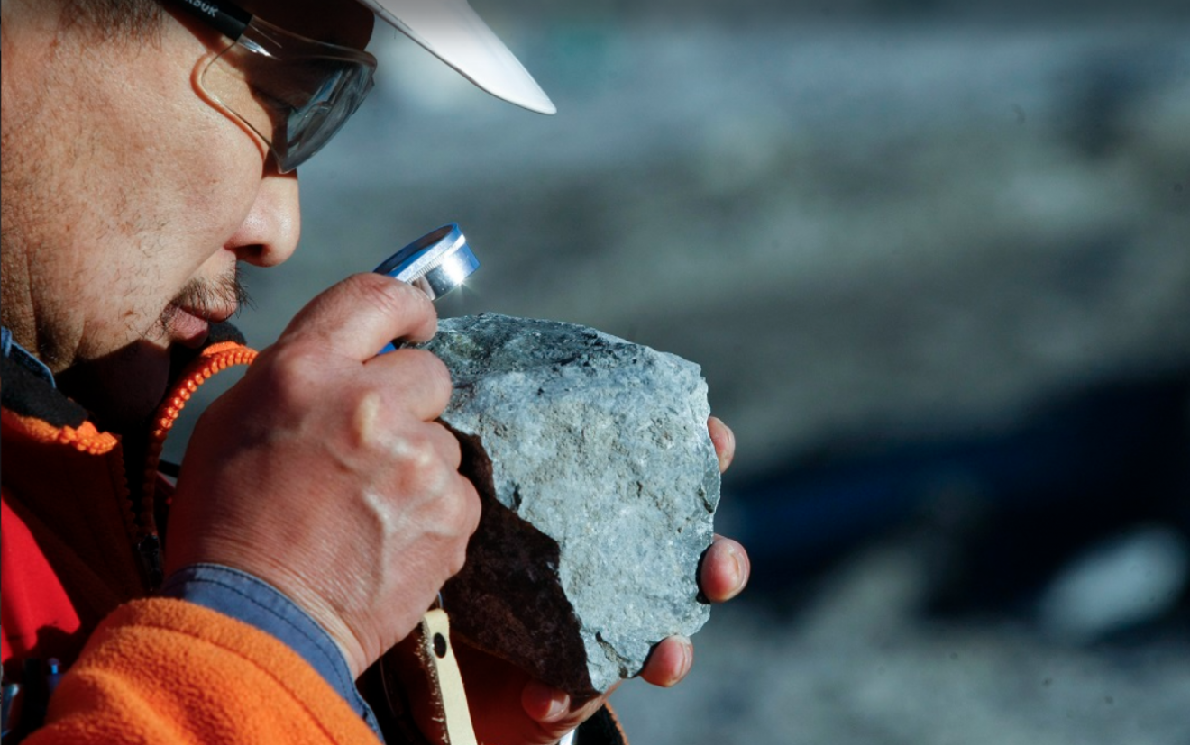
[[[218,345],[195,374],[250,359]],[[138,599],[148,589],[133,545],[149,518],[130,500],[119,440],[5,362],[0,658],[7,673],[26,658],[67,667],[25,743],[375,744],[273,636],[184,601]],[[163,406],[164,429],[194,387],[183,381]]]

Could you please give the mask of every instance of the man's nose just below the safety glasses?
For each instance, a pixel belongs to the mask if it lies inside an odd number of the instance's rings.
[[[276,266],[293,255],[300,235],[298,172],[277,173],[269,169],[261,179],[251,210],[228,247],[236,251],[240,261]]]

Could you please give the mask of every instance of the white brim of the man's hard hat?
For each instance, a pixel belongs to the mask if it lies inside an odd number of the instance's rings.
[[[466,0],[359,0],[497,99],[543,114],[558,109]]]

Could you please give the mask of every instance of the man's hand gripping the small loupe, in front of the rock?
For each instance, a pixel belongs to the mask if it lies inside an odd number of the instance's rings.
[[[167,572],[209,562],[281,589],[353,676],[405,638],[463,566],[480,500],[428,352],[420,290],[357,274],[314,298],[203,413],[174,498]]]

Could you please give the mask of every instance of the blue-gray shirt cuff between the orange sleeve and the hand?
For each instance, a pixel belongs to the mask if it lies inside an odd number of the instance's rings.
[[[313,665],[384,741],[376,715],[351,680],[339,646],[277,588],[230,567],[193,564],[170,575],[157,594],[201,605],[273,634]]]

